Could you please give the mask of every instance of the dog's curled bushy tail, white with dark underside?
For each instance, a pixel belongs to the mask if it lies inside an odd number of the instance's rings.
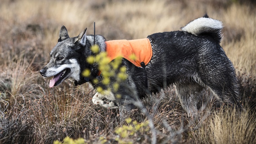
[[[197,36],[211,36],[214,40],[220,43],[222,39],[223,24],[221,21],[209,18],[207,14],[189,22],[181,30],[190,32]]]

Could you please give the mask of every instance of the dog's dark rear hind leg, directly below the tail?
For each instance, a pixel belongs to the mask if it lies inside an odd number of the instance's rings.
[[[231,62],[224,63],[224,60],[219,62],[218,66],[212,67],[211,69],[205,68],[202,73],[199,73],[199,77],[219,100],[241,111],[243,110],[243,106],[239,103],[240,94],[235,70]]]

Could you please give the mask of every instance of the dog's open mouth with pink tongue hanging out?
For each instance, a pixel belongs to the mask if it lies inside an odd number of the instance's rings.
[[[64,81],[67,78],[66,76],[69,73],[70,73],[70,69],[67,68],[61,71],[60,73],[58,73],[57,75],[55,75],[53,79],[50,80],[49,87],[54,87],[59,85],[62,81]]]

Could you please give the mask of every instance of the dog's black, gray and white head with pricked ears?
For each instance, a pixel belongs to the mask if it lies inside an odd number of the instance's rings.
[[[79,82],[81,79],[81,69],[84,67],[81,62],[86,57],[86,30],[77,37],[69,38],[65,26],[61,27],[57,45],[50,53],[50,62],[40,70],[43,77],[52,77],[49,86],[57,86],[65,79],[69,78]],[[90,44],[88,44],[91,46]],[[88,54],[90,55],[90,54]]]

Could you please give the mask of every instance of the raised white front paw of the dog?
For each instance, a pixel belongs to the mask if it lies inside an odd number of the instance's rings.
[[[94,96],[92,97],[92,102],[95,105],[99,104],[100,106],[105,107],[107,109],[117,109],[118,108],[118,106],[115,102],[105,99],[98,92],[96,92],[96,94],[94,94]]]

